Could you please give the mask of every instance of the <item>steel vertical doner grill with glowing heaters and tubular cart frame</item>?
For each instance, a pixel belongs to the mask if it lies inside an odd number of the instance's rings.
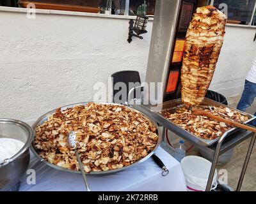
[[[143,87],[141,99],[143,105],[135,105],[136,108],[148,116],[152,117],[165,129],[176,133],[184,140],[189,141],[198,149],[202,149],[214,156],[206,191],[211,190],[212,179],[218,157],[228,150],[236,147],[244,140],[251,138],[248,152],[244,161],[243,169],[237,185],[237,191],[241,189],[244,174],[248,166],[253,145],[255,143],[255,134],[242,129],[230,129],[224,133],[219,140],[208,145],[195,137],[180,131],[175,124],[161,117],[156,111],[152,111],[155,105],[164,105],[173,103],[173,100],[180,99],[180,69],[182,66],[182,56],[184,51],[184,41],[189,22],[196,7],[204,6],[202,2],[196,0],[157,0],[154,24],[152,29],[152,38],[150,42],[150,52],[148,55],[147,74],[145,82],[147,87]],[[154,83],[150,85],[150,83]],[[136,87],[138,88],[138,87]],[[135,88],[135,89],[136,89]],[[131,90],[133,92],[134,90]],[[129,97],[128,97],[129,98]],[[129,101],[129,99],[127,100]],[[214,102],[212,102],[214,103]],[[238,111],[238,110],[237,110]],[[255,120],[251,115],[248,123]]]

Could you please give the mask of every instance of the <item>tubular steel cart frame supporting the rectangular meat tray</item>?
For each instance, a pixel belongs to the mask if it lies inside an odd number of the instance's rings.
[[[182,134],[180,133],[179,129],[177,126],[173,125],[171,122],[168,122],[168,120],[163,120],[161,119],[161,117],[157,116],[155,112],[152,112],[150,110],[150,106],[145,106],[145,105],[134,105],[134,108],[140,110],[141,112],[147,113],[147,115],[151,118],[153,118],[160,126],[163,126],[163,138],[162,141],[164,141],[164,137],[165,137],[165,130],[169,129],[170,131],[172,131],[173,133],[177,134],[178,136],[180,136],[180,138],[183,138],[184,140],[188,141],[189,143],[195,145],[195,147],[197,147],[198,149],[204,150],[204,152],[207,152],[207,154],[209,154],[210,156],[212,156],[214,159],[212,161],[212,166],[211,166],[211,170],[209,173],[209,179],[207,182],[207,187],[206,187],[206,191],[210,191],[211,186],[212,186],[212,179],[214,177],[214,171],[216,169],[216,165],[218,162],[218,158],[221,154],[224,154],[225,152],[227,152],[228,150],[236,147],[237,145],[239,145],[241,142],[243,142],[244,140],[251,138],[251,142],[250,145],[248,147],[248,151],[244,160],[244,164],[243,164],[243,168],[241,171],[241,175],[239,177],[239,181],[237,184],[237,188],[236,191],[240,191],[242,183],[243,183],[243,179],[244,179],[244,175],[246,172],[246,168],[248,166],[249,160],[250,160],[250,156],[252,154],[252,149],[253,149],[253,145],[255,143],[255,136],[256,134],[251,132],[251,131],[246,131],[243,129],[230,129],[229,131],[227,131],[224,135],[222,135],[220,137],[220,139],[218,141],[216,141],[214,144],[207,146],[204,143],[198,142],[198,140],[195,140],[195,137],[190,136],[189,134]],[[255,120],[255,117],[253,117],[250,121]],[[224,190],[228,190],[230,191],[230,187],[225,186],[225,185],[221,185],[222,189]]]

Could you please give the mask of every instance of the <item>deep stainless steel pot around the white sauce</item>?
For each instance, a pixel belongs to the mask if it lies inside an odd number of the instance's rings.
[[[29,164],[29,146],[35,136],[33,129],[26,123],[13,119],[0,119],[0,138],[13,138],[25,145],[13,157],[0,163],[0,191],[9,191],[24,175]]]

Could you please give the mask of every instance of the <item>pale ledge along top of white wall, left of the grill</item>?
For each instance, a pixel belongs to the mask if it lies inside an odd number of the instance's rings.
[[[17,13],[27,13],[28,8],[16,8],[8,6],[0,6],[0,12],[17,12]],[[116,18],[116,19],[136,19],[136,16],[132,15],[106,15],[103,13],[86,13],[86,12],[77,12],[77,11],[60,11],[60,10],[44,10],[36,9],[36,13],[40,14],[54,14],[54,15],[76,15],[81,17],[99,17],[99,18]],[[154,18],[149,18],[148,20],[153,20]]]

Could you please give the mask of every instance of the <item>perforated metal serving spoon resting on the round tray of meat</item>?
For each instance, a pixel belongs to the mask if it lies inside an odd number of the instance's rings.
[[[80,167],[80,170],[82,172],[82,175],[83,175],[83,180],[84,180],[84,184],[86,186],[86,189],[87,191],[91,191],[89,185],[88,185],[88,182],[87,182],[87,179],[86,179],[86,173],[84,171],[84,168],[83,168],[83,164],[81,162],[81,159],[80,159],[80,156],[78,154],[78,151],[77,151],[77,148],[76,148],[76,133],[74,131],[70,131],[68,133],[68,140],[67,140],[67,143],[68,143],[68,147],[70,149],[75,149],[75,153],[76,153],[76,159],[78,161],[78,164],[79,164],[79,167]]]

